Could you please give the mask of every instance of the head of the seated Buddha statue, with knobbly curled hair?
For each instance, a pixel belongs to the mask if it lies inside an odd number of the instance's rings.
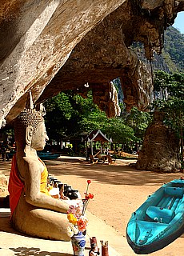
[[[30,108],[22,110],[14,122],[14,137],[16,144],[22,148],[43,150],[49,138],[42,112]]]

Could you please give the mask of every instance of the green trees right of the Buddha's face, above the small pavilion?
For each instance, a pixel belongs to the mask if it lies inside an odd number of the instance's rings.
[[[123,118],[106,118],[105,112],[94,105],[92,93],[82,98],[71,91],[50,98],[46,104],[46,129],[50,138],[74,138],[102,130],[114,142],[132,142],[134,129],[125,124]]]

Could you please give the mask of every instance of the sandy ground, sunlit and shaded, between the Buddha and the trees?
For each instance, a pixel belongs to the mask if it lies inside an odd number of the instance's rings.
[[[114,227],[118,234],[126,237],[126,225],[134,210],[137,210],[148,197],[164,182],[180,178],[177,174],[156,174],[138,171],[129,164],[135,160],[116,160],[112,165],[107,163],[91,164],[82,158],[60,157],[57,160],[44,161],[50,174],[61,182],[67,183],[81,195],[86,192],[87,180],[91,180],[89,192],[94,194],[88,210],[98,218]],[[6,165],[6,168],[3,167]],[[1,170],[8,174],[9,162],[0,163]],[[184,174],[183,174],[184,175]],[[100,227],[99,227],[100,228]],[[182,256],[184,255],[184,234],[164,249],[151,255]],[[128,246],[128,244],[127,244]],[[114,248],[115,249],[115,248]],[[136,255],[132,251],[131,255]],[[129,255],[127,255],[129,256]]]

